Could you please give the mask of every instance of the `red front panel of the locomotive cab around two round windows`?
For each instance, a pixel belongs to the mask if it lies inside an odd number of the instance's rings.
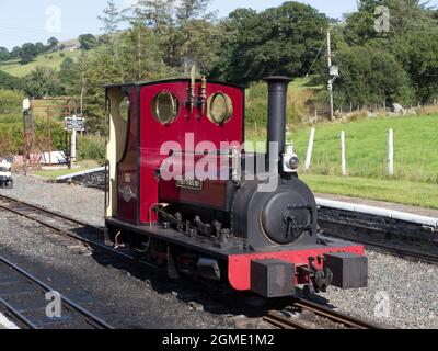
[[[239,143],[244,140],[243,116],[244,93],[238,88],[208,83],[207,98],[216,92],[228,94],[233,103],[233,115],[229,122],[219,126],[211,123],[206,115],[197,118],[199,111],[187,117],[188,111],[184,104],[187,100],[188,81],[161,82],[145,86],[140,92],[141,104],[141,132],[140,132],[140,220],[141,223],[155,222],[157,217],[151,214],[151,207],[159,201],[159,180],[155,171],[160,169],[163,160],[169,155],[160,155],[161,147],[166,141],[175,141],[181,145],[181,151],[195,151],[194,147],[201,141],[210,141],[220,149],[220,143]],[[172,92],[180,101],[180,113],[177,118],[170,125],[162,125],[155,121],[151,105],[154,97],[163,90]],[[196,84],[196,91],[199,83]],[[193,134],[193,144],[186,145],[186,134]],[[182,177],[183,174],[181,174]]]

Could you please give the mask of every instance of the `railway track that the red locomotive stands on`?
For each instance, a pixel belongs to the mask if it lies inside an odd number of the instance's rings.
[[[128,263],[141,264],[147,269],[157,270],[155,265],[139,260],[136,254],[131,254],[128,251],[122,252],[105,245],[104,229],[100,227],[4,195],[0,195],[0,208],[20,215],[27,219],[35,220],[42,226],[45,226],[59,235],[66,236],[70,239],[87,245],[94,251],[97,250],[103,252],[104,254],[111,256],[112,258],[116,258],[117,260],[123,260]],[[292,305],[289,308],[296,312],[298,310],[298,313],[311,313],[319,319],[330,321],[332,327],[341,326],[343,328],[351,329],[380,328],[378,326],[368,324],[347,315],[343,315],[328,307],[306,299],[293,301]],[[288,318],[277,310],[268,312],[263,317],[263,319],[270,325],[281,329],[312,329],[315,327],[314,322],[309,324],[300,318]]]

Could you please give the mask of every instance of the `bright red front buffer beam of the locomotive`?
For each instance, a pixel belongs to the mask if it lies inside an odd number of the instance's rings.
[[[295,250],[284,252],[267,252],[254,254],[237,254],[230,256],[228,260],[228,279],[233,288],[237,291],[251,290],[251,261],[277,259],[285,262],[290,262],[297,265],[308,265],[309,258],[323,257],[327,253],[349,252],[364,256],[362,246],[349,246],[339,248],[323,248],[309,250]],[[314,262],[318,269],[322,269],[321,264]],[[293,279],[291,276],[291,279]],[[298,282],[296,282],[298,283]]]

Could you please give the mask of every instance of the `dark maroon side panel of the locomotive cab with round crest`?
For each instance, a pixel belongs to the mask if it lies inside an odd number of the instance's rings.
[[[137,224],[138,204],[138,114],[137,89],[129,91],[130,118],[129,134],[125,158],[118,163],[118,216],[117,218],[130,224]]]

